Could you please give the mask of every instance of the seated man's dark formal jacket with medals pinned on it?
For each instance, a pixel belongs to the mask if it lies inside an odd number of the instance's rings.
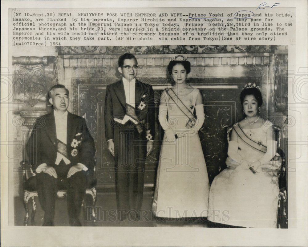
[[[71,161],[69,166],[82,163],[89,170],[93,169],[95,155],[93,138],[85,120],[70,112],[67,113],[66,147],[67,158]],[[42,163],[46,163],[48,166],[55,166],[57,134],[53,112],[36,119],[27,144],[27,153],[34,172]]]

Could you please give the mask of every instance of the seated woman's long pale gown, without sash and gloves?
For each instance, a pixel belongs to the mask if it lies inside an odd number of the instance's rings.
[[[266,131],[271,126],[244,129],[250,139],[266,143]],[[257,152],[238,138],[240,155],[248,162],[260,159]],[[278,209],[277,173],[253,174],[241,166],[224,169],[218,174],[209,192],[209,216],[212,222],[258,228],[276,228]]]

